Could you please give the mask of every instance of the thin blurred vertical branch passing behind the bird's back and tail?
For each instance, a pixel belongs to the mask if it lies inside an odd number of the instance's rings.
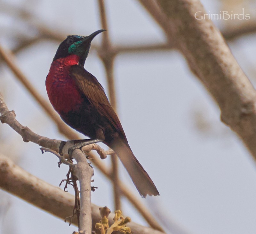
[[[115,54],[113,53],[113,49],[111,47],[111,43],[108,35],[108,24],[106,18],[106,9],[104,0],[98,0],[99,11],[100,11],[100,20],[101,26],[103,29],[107,30],[102,34],[102,44],[98,51],[98,54],[104,64],[104,68],[107,75],[108,82],[108,95],[109,101],[113,109],[116,111],[116,90],[115,90],[115,80],[114,80],[114,59]],[[113,185],[113,194],[115,201],[115,210],[121,210],[121,196],[119,189],[119,175],[118,175],[118,159],[116,154],[111,155],[111,164],[112,164],[112,185]]]

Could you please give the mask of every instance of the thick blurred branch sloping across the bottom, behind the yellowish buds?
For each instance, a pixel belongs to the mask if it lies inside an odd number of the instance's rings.
[[[0,155],[0,178],[2,189],[62,220],[73,213],[75,196],[36,178],[2,155]],[[108,217],[111,224],[113,217],[113,213]],[[95,223],[99,222],[100,219],[99,207],[92,204],[92,229],[96,233],[100,233],[94,229]],[[77,225],[76,216],[72,219],[72,224]],[[133,222],[127,226],[132,228],[133,234],[163,234],[163,232]]]

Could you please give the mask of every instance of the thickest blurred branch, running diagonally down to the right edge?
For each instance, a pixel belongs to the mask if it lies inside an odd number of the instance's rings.
[[[139,1],[153,12],[149,4],[152,0]],[[195,18],[195,12],[206,14],[199,1],[157,0],[157,3],[168,18],[168,23],[161,25],[166,36],[175,38],[190,69],[218,103],[221,121],[236,132],[256,158],[256,92],[219,30],[211,20]]]

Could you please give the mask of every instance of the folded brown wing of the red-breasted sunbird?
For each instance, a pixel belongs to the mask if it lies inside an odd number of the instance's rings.
[[[116,131],[127,141],[123,127],[96,77],[78,65],[71,67],[70,75],[75,79],[77,86],[89,102],[99,110],[100,114],[108,119]]]

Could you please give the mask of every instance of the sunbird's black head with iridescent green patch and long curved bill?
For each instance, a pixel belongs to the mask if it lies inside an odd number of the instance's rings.
[[[53,61],[59,58],[65,58],[69,55],[77,55],[80,58],[79,64],[84,65],[84,62],[89,54],[92,39],[104,31],[106,30],[100,29],[87,37],[78,35],[67,36],[67,38],[60,43]]]

